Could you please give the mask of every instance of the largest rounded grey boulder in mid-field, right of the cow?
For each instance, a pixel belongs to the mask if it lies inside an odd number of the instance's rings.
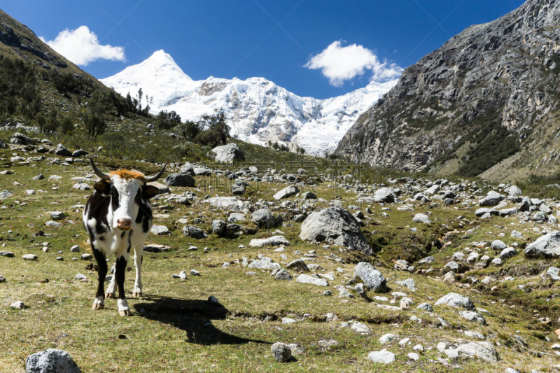
[[[330,244],[362,251],[367,255],[373,253],[358,220],[338,206],[310,213],[302,223],[300,239],[314,243],[327,241]]]

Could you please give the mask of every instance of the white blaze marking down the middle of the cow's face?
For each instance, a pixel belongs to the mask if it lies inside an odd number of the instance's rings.
[[[125,180],[117,175],[111,175],[111,184],[118,192],[119,206],[113,211],[111,225],[113,229],[123,229],[119,225],[119,220],[132,220],[127,230],[134,229],[139,205],[134,201],[144,185],[144,181],[139,178]]]

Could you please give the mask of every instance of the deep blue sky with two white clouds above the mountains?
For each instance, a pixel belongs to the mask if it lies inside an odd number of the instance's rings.
[[[398,76],[470,24],[523,2],[0,0],[0,8],[46,41],[67,29],[59,45],[96,78],[163,49],[195,80],[263,76],[324,99]]]

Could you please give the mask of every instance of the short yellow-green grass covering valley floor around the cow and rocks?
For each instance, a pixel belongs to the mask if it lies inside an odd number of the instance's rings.
[[[335,276],[335,281],[329,281],[329,288],[332,288],[348,281],[358,259],[354,253],[344,250],[341,252],[334,246],[323,248],[322,245],[307,244],[297,237],[300,224],[291,221],[279,228],[290,241],[290,246],[283,252],[288,260],[282,260],[281,253],[274,252],[273,248],[248,248],[250,239],[269,237],[275,230],[260,230],[254,236],[235,239],[214,236],[201,241],[189,239],[183,236],[183,225],[177,220],[187,218],[192,223],[195,218],[201,218],[200,226],[207,229],[212,219],[225,218],[228,212],[212,211],[204,203],[172,205],[170,208],[167,202],[159,199],[156,202],[160,206],[155,209],[155,213],[169,211],[169,218],[159,218],[155,223],[167,225],[172,230],[172,235],[151,235],[148,242],[167,244],[171,249],[167,253],[145,253],[145,297],[130,300],[132,317],[120,318],[115,300],[106,300],[106,308],[101,311],[91,310],[97,273],[86,269],[91,262],[74,261],[72,258],[79,258],[79,254],[69,253],[69,248],[74,244],[80,246],[82,253],[90,252],[85,242],[85,230],[81,225],[81,211],[71,208],[76,204],[83,204],[84,197],[89,193],[72,189],[74,181],[70,180],[73,176],[90,174],[90,167],[87,164],[74,164],[71,167],[49,165],[44,160],[37,162],[35,167],[22,166],[9,162],[11,153],[24,154],[20,151],[0,150],[0,169],[14,171],[14,174],[1,176],[0,190],[8,189],[15,193],[14,197],[4,199],[0,204],[8,206],[0,209],[0,244],[6,244],[0,250],[15,253],[15,258],[0,257],[0,274],[7,279],[5,283],[0,283],[0,317],[3,320],[0,327],[0,335],[3,335],[0,338],[0,348],[6,351],[0,358],[2,372],[22,370],[29,354],[48,348],[68,351],[84,372],[445,372],[454,368],[439,363],[437,358],[441,354],[433,347],[442,340],[454,342],[465,339],[458,328],[478,330],[493,344],[502,344],[496,346],[501,359],[498,364],[491,365],[472,359],[458,360],[456,364],[465,372],[502,372],[505,365],[517,369],[535,367],[542,370],[543,366],[552,365],[551,356],[535,358],[530,353],[519,354],[514,347],[505,343],[516,330],[520,330],[530,344],[530,351],[547,351],[547,342],[542,340],[542,336],[552,336],[549,328],[535,323],[531,309],[521,303],[523,295],[512,287],[504,287],[500,290],[501,293],[494,295],[479,288],[485,293],[480,294],[472,290],[457,289],[433,277],[392,269],[391,260],[407,258],[412,261],[423,255],[434,255],[437,258],[435,268],[442,266],[445,258],[456,249],[478,239],[487,239],[488,234],[485,232],[490,230],[497,234],[500,230],[496,230],[493,225],[505,226],[510,220],[483,220],[472,237],[457,239],[451,246],[442,249],[428,249],[423,245],[428,239],[437,241],[444,234],[442,225],[449,226],[449,229],[456,227],[459,215],[468,216],[472,213],[467,207],[458,205],[428,209],[426,205],[414,203],[415,212],[411,212],[398,211],[398,205],[388,205],[391,208],[388,211],[381,210],[381,206],[374,204],[370,206],[372,213],[365,220],[367,225],[363,228],[364,232],[377,230],[374,237],[384,237],[381,250],[370,260],[386,276],[391,291],[404,291],[416,304],[433,304],[437,298],[451,291],[466,294],[472,297],[477,307],[488,309],[491,313],[491,316],[485,316],[489,325],[481,326],[458,319],[456,311],[447,307],[436,307],[434,316],[415,308],[411,311],[391,311],[379,309],[374,302],[362,299],[342,302],[336,297],[336,291],[335,296],[325,297],[321,295],[325,288],[295,281],[276,281],[268,272],[255,271],[257,274],[254,276],[247,276],[246,272],[250,269],[237,265],[236,260],[241,261],[244,257],[257,258],[262,254],[276,262],[285,263],[300,256],[294,254],[296,250],[302,253],[315,250],[315,262],[323,267],[319,272],[332,272]],[[98,162],[109,168],[114,167],[118,160],[100,157]],[[146,172],[158,169],[156,165],[137,161],[123,163],[127,167],[143,166],[139,169]],[[173,168],[169,170],[171,171]],[[44,174],[47,180],[31,181],[31,177],[38,173]],[[48,180],[52,174],[62,176],[62,180]],[[204,178],[197,177],[197,185],[203,183]],[[270,201],[272,190],[283,186],[262,183],[262,188],[253,191],[250,198],[253,202],[260,198]],[[41,189],[47,193],[26,195],[25,190],[28,189]],[[174,188],[174,192],[181,193],[186,189],[188,188]],[[204,190],[192,190],[199,197],[206,194]],[[326,183],[319,184],[314,192],[326,201],[340,195],[345,206],[355,204],[358,194],[328,188]],[[227,195],[216,190],[209,194]],[[318,202],[316,208],[326,206],[328,202]],[[361,207],[365,209],[366,205]],[[428,210],[432,213],[432,225],[412,223],[414,213]],[[50,220],[49,211],[64,211],[66,218],[63,220],[63,227],[51,228],[44,225],[45,221]],[[275,211],[281,212],[283,211]],[[388,216],[384,216],[382,212],[388,213]],[[250,222],[244,224],[252,225]],[[410,231],[412,227],[417,228],[416,233]],[[8,233],[10,230],[12,232]],[[36,236],[39,231],[43,231],[45,236]],[[41,251],[41,243],[44,241],[50,242],[48,253]],[[510,243],[511,240],[504,241]],[[191,244],[198,246],[199,250],[187,251]],[[240,244],[246,247],[239,248]],[[412,245],[419,246],[419,249],[415,252]],[[210,248],[209,253],[202,251],[205,246]],[[58,254],[57,251],[63,253]],[[22,260],[21,255],[26,253],[38,255],[38,261]],[[346,263],[325,259],[331,253],[344,258]],[[64,261],[55,260],[57,256],[64,257]],[[232,264],[226,269],[223,268],[224,262]],[[129,264],[129,267],[133,266]],[[345,273],[338,273],[338,267],[344,269]],[[187,272],[197,269],[201,276],[189,276],[186,281],[172,279],[172,274],[183,269]],[[126,274],[125,288],[129,297],[133,271],[134,269]],[[78,273],[85,274],[87,281],[75,280],[74,276]],[[293,273],[293,276],[297,276],[297,273]],[[408,277],[416,281],[415,293],[393,282]],[[525,280],[517,281],[522,283]],[[512,283],[513,285],[517,285],[517,282]],[[535,292],[535,297],[531,298],[533,300],[529,304],[531,307],[548,306],[542,312],[551,310],[550,307],[558,304],[558,298],[542,305],[542,300],[536,298],[554,291],[554,288],[546,290],[543,287],[540,293]],[[532,293],[529,294],[533,296]],[[220,304],[209,304],[207,298],[210,295],[218,297]],[[369,295],[374,296],[371,293]],[[392,298],[390,293],[381,295]],[[521,306],[510,309],[510,303],[498,302],[500,297],[506,295],[514,301],[519,299]],[[10,309],[9,304],[16,300],[22,300],[27,308]],[[396,304],[398,305],[398,301]],[[323,322],[325,314],[329,312],[337,314],[340,321],[366,323],[372,330],[371,335],[356,335],[348,328],[339,328],[337,322]],[[408,321],[412,315],[422,318],[423,323],[417,325]],[[447,320],[451,328],[434,328],[436,316]],[[283,325],[280,323],[282,317],[296,318],[298,323]],[[378,339],[386,332],[400,338],[409,337],[412,344],[400,346],[395,342],[381,346]],[[317,345],[319,340],[330,338],[336,339],[339,345],[326,351]],[[304,353],[295,356],[296,360],[291,363],[276,363],[270,353],[270,344],[274,342],[301,344]],[[432,349],[422,353],[421,360],[411,363],[406,356],[417,343],[423,344],[425,349]],[[380,366],[367,360],[370,351],[381,348],[395,353],[397,361]]]

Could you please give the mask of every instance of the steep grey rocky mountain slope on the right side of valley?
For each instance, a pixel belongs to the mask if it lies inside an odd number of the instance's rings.
[[[409,66],[336,153],[398,169],[489,178],[560,160],[560,1],[528,0]]]

